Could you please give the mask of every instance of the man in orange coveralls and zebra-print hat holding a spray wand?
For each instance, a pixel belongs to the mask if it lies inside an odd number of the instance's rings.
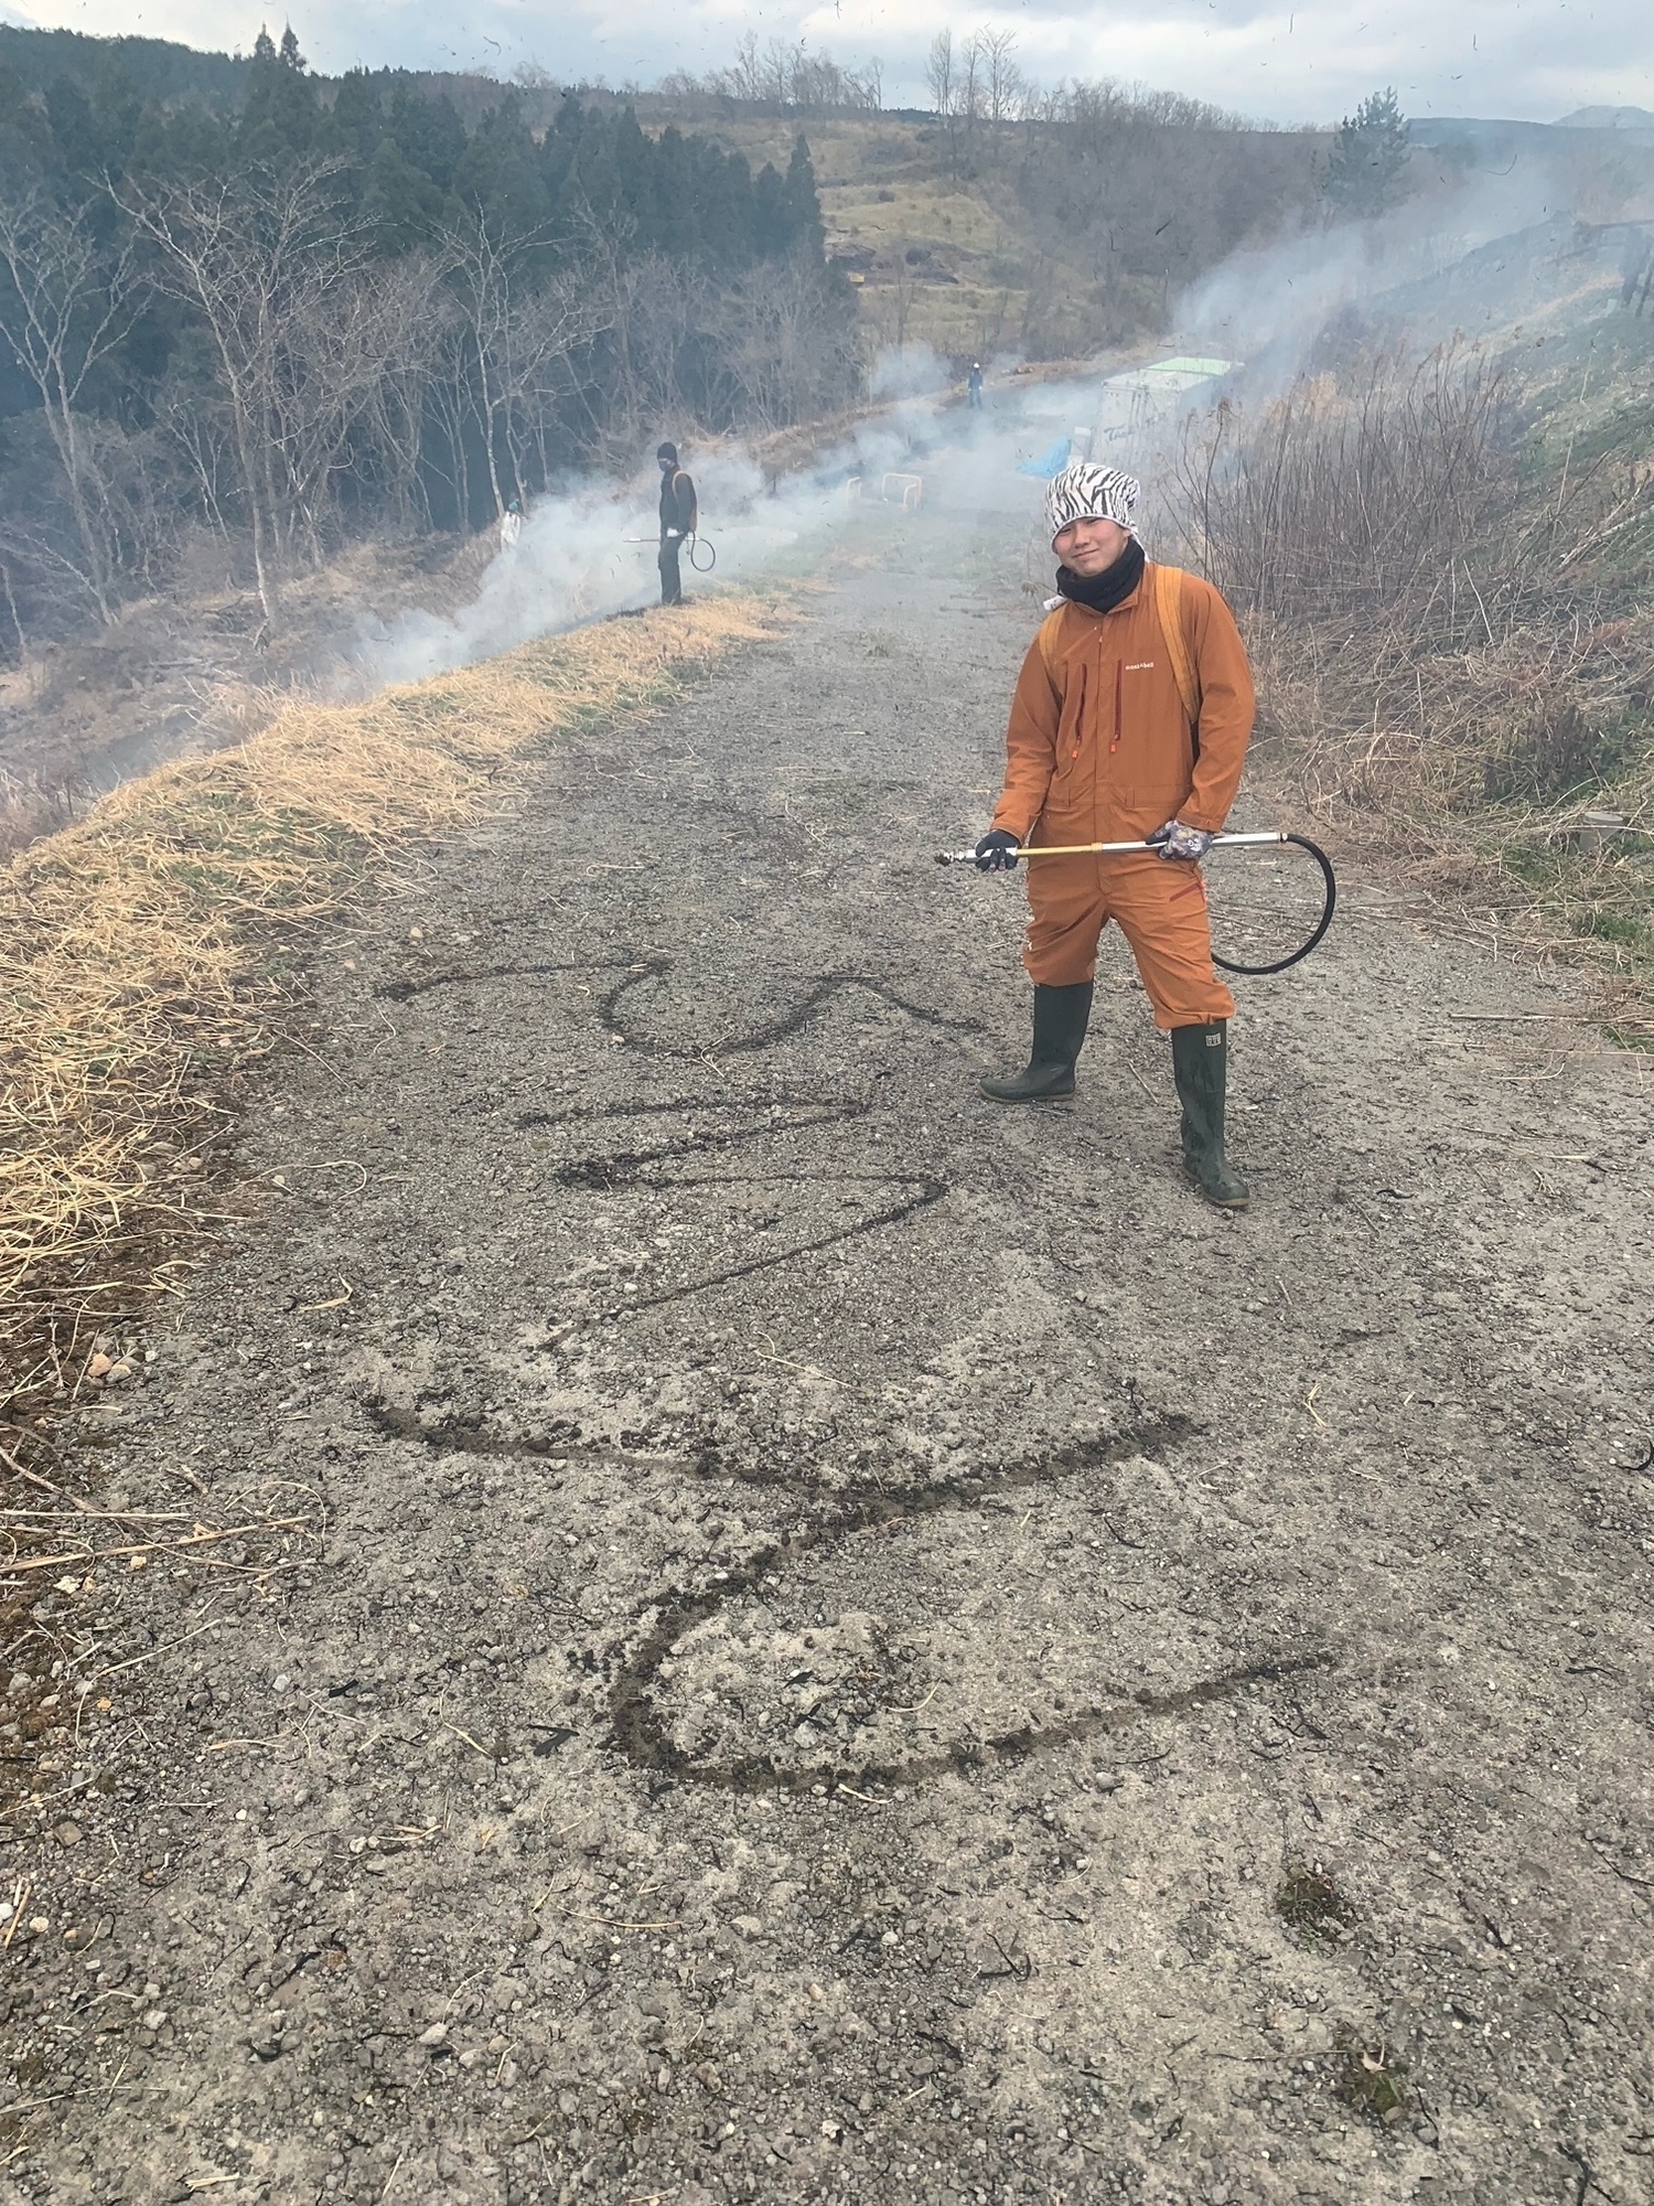
[[[1045,523],[1061,604],[1034,638],[1006,737],[1006,788],[977,865],[1037,843],[1153,845],[1140,856],[1028,867],[1034,1050],[981,1083],[999,1103],[1074,1094],[1103,927],[1131,944],[1153,1019],[1171,1035],[1182,1154],[1202,1193],[1244,1209],[1224,1156],[1228,1019],[1211,957],[1200,860],[1228,818],[1253,735],[1253,677],[1235,618],[1197,576],[1156,567],[1131,534],[1140,485],[1081,461],[1050,483]]]

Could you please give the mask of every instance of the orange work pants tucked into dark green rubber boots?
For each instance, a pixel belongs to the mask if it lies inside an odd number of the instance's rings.
[[[1206,882],[1180,858],[1032,858],[1023,966],[1043,988],[1096,975],[1098,935],[1114,920],[1131,944],[1153,1024],[1209,1026],[1235,1015],[1211,962]]]

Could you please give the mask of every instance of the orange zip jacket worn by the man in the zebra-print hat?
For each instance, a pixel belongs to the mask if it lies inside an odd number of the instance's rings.
[[[1235,615],[1193,574],[1182,578],[1180,629],[1197,679],[1197,746],[1153,567],[1111,613],[1063,602],[1050,615],[1017,677],[995,827],[1021,843],[1127,843],[1171,818],[1224,825],[1253,735],[1253,675]]]

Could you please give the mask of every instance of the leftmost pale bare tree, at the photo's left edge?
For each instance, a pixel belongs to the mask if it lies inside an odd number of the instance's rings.
[[[33,185],[0,196],[0,335],[40,393],[84,556],[84,585],[101,620],[115,620],[119,527],[86,386],[143,307],[132,238],[108,245],[90,205],[60,207]]]

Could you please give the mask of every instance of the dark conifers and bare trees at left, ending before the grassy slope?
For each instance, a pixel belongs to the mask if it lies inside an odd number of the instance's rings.
[[[291,31],[236,101],[146,97],[119,46],[37,93],[0,64],[18,649],[115,618],[192,534],[245,549],[273,620],[351,534],[476,527],[562,468],[856,386],[803,137],[754,174],[613,101],[536,137],[505,86],[468,128],[408,77],[320,86]]]

